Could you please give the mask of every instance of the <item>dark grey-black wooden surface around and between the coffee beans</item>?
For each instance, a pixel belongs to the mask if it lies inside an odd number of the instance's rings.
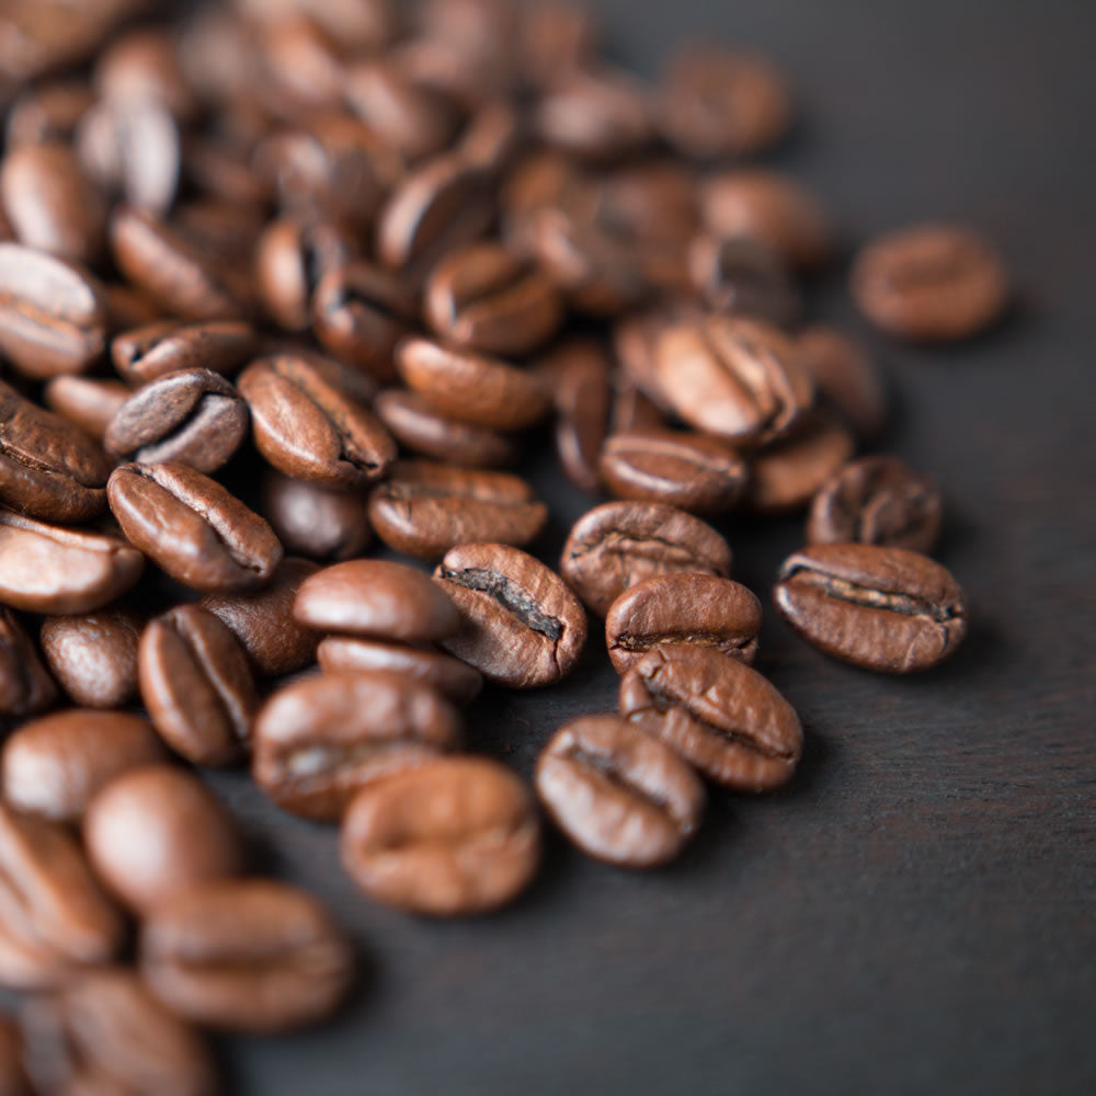
[[[775,158],[849,246],[954,218],[1015,272],[1016,313],[944,352],[874,335],[837,275],[820,315],[863,335],[898,396],[887,447],[936,477],[940,558],[968,591],[956,658],[916,680],[826,660],[769,613],[758,667],[802,715],[779,795],[711,796],[651,876],[551,837],[492,917],[377,907],[334,834],[218,776],[270,868],[322,895],[367,957],[331,1026],[225,1044],[240,1094],[1096,1092],[1094,278],[1096,5],[1085,0],[602,0],[646,75],[695,32],[769,50],[803,123]],[[552,560],[590,504],[546,459]],[[799,524],[726,525],[767,600]],[[547,693],[493,693],[473,750],[528,773],[564,719],[610,708],[595,631]]]

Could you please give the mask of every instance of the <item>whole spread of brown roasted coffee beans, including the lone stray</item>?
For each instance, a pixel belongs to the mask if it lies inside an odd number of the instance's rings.
[[[368,899],[479,913],[534,878],[543,817],[648,868],[705,784],[792,778],[723,515],[809,513],[775,602],[837,659],[926,670],[967,628],[925,555],[938,489],[857,456],[872,361],[807,322],[840,249],[757,163],[795,119],[766,59],[686,43],[644,87],[572,0],[170,20],[0,10],[0,983],[30,994],[4,1093],[203,1096],[201,1028],[346,992],[340,928],[248,875],[184,762],[339,825]],[[948,225],[869,244],[850,289],[921,341],[1008,299]],[[591,506],[558,571],[520,473],[545,446]],[[533,786],[463,754],[477,694],[558,683],[591,619],[607,710]]]

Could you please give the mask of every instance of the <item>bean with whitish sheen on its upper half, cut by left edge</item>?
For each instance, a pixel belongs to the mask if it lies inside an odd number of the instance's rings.
[[[21,243],[0,243],[0,351],[26,376],[82,373],[106,343],[106,297],[90,274]]]

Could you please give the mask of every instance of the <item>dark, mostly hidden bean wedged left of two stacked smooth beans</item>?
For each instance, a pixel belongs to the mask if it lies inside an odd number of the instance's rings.
[[[254,594],[206,594],[201,605],[243,644],[255,673],[265,677],[292,674],[316,661],[317,636],[293,617],[293,603],[317,564],[283,559],[270,585]]]

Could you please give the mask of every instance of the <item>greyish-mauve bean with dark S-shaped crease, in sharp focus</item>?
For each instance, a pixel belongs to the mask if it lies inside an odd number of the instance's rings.
[[[189,465],[214,472],[248,434],[248,408],[220,374],[169,373],[137,391],[111,420],[103,446],[111,456]]]

